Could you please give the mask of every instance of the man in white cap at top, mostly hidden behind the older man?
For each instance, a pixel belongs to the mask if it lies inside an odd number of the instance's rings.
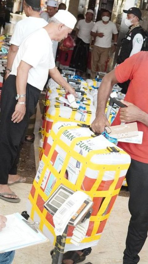
[[[40,17],[45,19],[48,22],[50,17],[54,16],[56,12],[58,11],[57,6],[58,6],[58,1],[48,0],[47,1],[47,11],[42,12],[40,14]]]

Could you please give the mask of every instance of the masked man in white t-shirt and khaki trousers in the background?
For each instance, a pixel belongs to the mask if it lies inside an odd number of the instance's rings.
[[[111,48],[112,36],[114,41],[114,48],[117,45],[117,28],[111,22],[110,12],[105,10],[101,14],[101,21],[96,22],[91,31],[91,36],[96,38],[91,58],[91,77],[96,77],[97,67],[98,71],[105,71],[105,63],[109,56]],[[113,50],[115,51],[115,50]]]

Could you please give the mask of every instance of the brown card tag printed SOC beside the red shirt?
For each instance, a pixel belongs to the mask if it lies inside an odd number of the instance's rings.
[[[115,137],[118,140],[123,139],[123,138],[138,136],[137,122],[121,124],[121,125],[112,126],[109,128],[111,130],[111,133],[109,133],[109,136]],[[106,128],[106,130],[107,132],[110,132],[108,128]]]

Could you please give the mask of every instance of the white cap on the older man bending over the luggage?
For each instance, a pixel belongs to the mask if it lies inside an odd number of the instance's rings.
[[[55,17],[62,24],[64,24],[65,26],[71,29],[75,27],[77,21],[75,16],[66,10],[59,10],[53,17]]]

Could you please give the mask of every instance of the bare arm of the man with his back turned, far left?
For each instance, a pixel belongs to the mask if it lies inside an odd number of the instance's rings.
[[[14,58],[18,52],[19,47],[16,45],[11,44],[9,51],[8,51],[8,58],[7,58],[7,68],[11,69],[12,64],[14,62]],[[5,80],[9,76],[10,71],[6,70]]]

